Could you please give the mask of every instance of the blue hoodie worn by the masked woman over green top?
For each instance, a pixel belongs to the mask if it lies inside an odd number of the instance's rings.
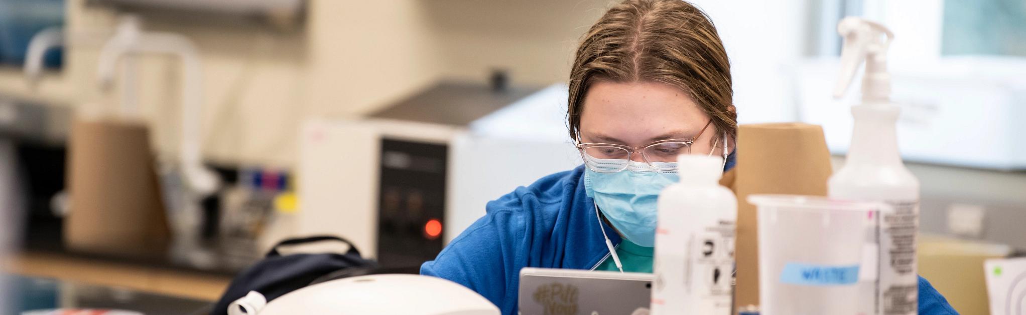
[[[516,314],[521,268],[595,268],[609,254],[600,228],[620,243],[611,227],[598,224],[592,202],[584,190],[584,166],[518,187],[488,202],[484,217],[424,263],[421,274],[466,285],[503,314]],[[919,314],[957,313],[919,278]]]

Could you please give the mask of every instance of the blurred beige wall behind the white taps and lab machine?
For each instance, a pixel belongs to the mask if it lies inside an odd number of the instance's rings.
[[[117,12],[68,0],[67,29],[110,30]],[[482,80],[511,70],[514,84],[566,80],[579,37],[608,1],[310,0],[302,30],[145,12],[144,28],[194,40],[204,64],[203,153],[213,162],[291,167],[301,122],[358,116],[442,78]],[[65,69],[29,90],[0,69],[0,94],[116,108],[94,87],[100,43],[68,49]],[[146,57],[140,103],[154,145],[176,148],[176,62]]]

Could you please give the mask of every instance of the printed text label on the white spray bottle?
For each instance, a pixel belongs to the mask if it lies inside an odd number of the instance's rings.
[[[918,200],[889,200],[893,213],[882,216],[880,278],[877,303],[884,315],[915,314],[918,308],[915,239],[919,228]]]

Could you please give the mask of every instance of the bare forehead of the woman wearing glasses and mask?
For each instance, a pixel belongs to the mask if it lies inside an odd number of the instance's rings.
[[[669,132],[697,132],[706,123],[705,112],[679,88],[655,82],[601,81],[585,95],[581,137],[602,134],[639,144]]]

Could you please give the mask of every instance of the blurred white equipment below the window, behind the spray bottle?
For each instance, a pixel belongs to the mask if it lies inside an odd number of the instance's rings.
[[[823,126],[827,145],[844,153],[852,139],[851,104],[833,99],[837,58],[798,66],[802,122]],[[901,107],[898,145],[909,162],[996,170],[1026,169],[1026,58],[948,56],[892,62],[891,99]],[[856,78],[855,80],[861,80]]]

